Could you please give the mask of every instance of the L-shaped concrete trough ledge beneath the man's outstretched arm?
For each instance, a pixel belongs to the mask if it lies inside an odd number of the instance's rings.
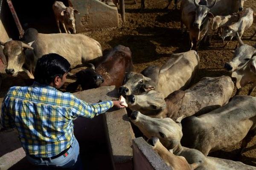
[[[106,101],[111,99],[117,99],[118,93],[115,89],[115,86],[100,87],[96,89],[90,89],[87,91],[80,91],[74,93],[78,98],[95,103],[99,100]],[[75,120],[75,127],[80,126],[80,133],[75,135],[78,138],[83,138],[84,134],[81,133],[81,129],[86,129],[85,126],[88,126],[84,121],[79,121],[78,118]],[[95,118],[94,118],[95,119]],[[91,121],[91,120],[90,120]],[[125,109],[113,110],[110,109],[106,114],[103,115],[103,124],[106,130],[107,142],[109,145],[109,150],[111,154],[112,166],[116,170],[132,170],[132,139],[134,139],[134,133],[131,128],[131,123],[127,117]],[[101,122],[98,122],[101,123]],[[84,127],[83,127],[84,126]],[[94,125],[95,126],[95,125]],[[96,124],[96,126],[101,126]],[[76,130],[76,128],[75,128]],[[96,130],[93,130],[96,132]],[[80,134],[80,135],[79,135]],[[79,135],[79,136],[77,136]],[[85,138],[88,136],[85,136]]]

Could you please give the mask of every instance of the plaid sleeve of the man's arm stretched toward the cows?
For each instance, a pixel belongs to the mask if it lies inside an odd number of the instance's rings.
[[[89,104],[81,99],[75,98],[71,116],[93,118],[99,114],[105,113],[108,109],[113,107],[113,101],[99,102]]]

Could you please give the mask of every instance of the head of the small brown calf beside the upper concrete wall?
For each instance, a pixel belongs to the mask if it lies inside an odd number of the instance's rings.
[[[76,24],[75,24],[75,14],[80,14],[79,11],[77,11],[76,9],[74,9],[73,7],[66,7],[65,10],[61,11],[61,16],[64,16],[64,20],[66,23],[68,23],[68,25],[72,28],[75,28]],[[73,30],[75,31],[75,30]],[[76,32],[74,32],[76,34]]]

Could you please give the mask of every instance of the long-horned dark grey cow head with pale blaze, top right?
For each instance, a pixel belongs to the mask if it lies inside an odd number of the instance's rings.
[[[196,0],[194,0],[194,4],[196,6],[196,10],[194,12],[195,13],[195,22],[193,23],[193,26],[195,28],[200,29],[202,23],[204,23],[204,21],[207,20],[208,17],[212,17],[212,18],[214,17],[213,14],[210,12],[210,9],[213,6],[215,6],[216,0],[210,6],[208,6],[207,0],[201,0],[199,2],[199,4],[196,3]]]

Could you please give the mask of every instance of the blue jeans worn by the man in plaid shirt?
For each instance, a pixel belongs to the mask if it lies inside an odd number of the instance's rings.
[[[82,170],[82,164],[81,164],[81,159],[79,156],[79,144],[74,138],[73,143],[71,144],[71,147],[69,150],[67,150],[69,153],[66,157],[59,156],[58,158],[55,159],[47,159],[47,160],[42,160],[42,159],[33,159],[29,155],[26,156],[28,161],[31,164],[40,166],[40,170],[52,170],[55,168],[68,168],[70,170]]]

